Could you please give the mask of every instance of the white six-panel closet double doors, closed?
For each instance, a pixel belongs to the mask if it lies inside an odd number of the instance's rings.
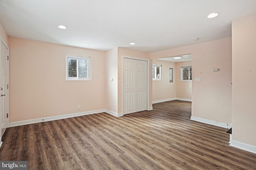
[[[124,58],[124,114],[147,110],[147,61]]]

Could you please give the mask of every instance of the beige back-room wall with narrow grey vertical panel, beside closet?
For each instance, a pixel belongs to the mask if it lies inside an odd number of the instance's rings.
[[[152,81],[152,100],[168,100],[176,98],[175,63],[170,61],[153,60],[153,64],[162,65],[162,80]],[[173,68],[173,82],[169,82],[169,68]],[[151,69],[152,70],[152,69]]]

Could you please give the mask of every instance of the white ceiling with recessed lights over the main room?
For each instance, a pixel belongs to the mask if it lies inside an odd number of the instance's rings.
[[[212,12],[219,15],[207,18]],[[256,0],[0,0],[9,36],[102,51],[156,52],[231,37],[231,20],[254,12]]]

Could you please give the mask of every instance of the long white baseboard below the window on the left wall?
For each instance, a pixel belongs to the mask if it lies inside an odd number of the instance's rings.
[[[38,119],[30,119],[30,120],[24,120],[24,121],[16,121],[16,122],[9,123],[9,127],[28,125],[28,124],[32,124],[32,123],[40,123],[40,122],[45,122],[45,121],[53,121],[53,120],[58,120],[58,119],[66,119],[66,118],[70,118],[70,117],[77,117],[77,116],[90,115],[90,114],[103,113],[103,112],[105,112],[105,109],[94,110],[94,111],[85,111],[85,112],[80,112],[80,113],[71,113],[71,114],[67,114],[67,115],[42,117],[42,118],[38,118]]]

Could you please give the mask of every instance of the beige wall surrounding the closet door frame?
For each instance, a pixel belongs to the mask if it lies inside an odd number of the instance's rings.
[[[150,59],[149,53],[135,51],[130,49],[125,49],[118,47],[118,113],[122,113],[122,70],[123,70],[123,56],[135,57],[142,59]],[[150,68],[152,68],[152,61],[149,63]],[[149,69],[152,70],[152,69]],[[149,107],[152,107],[152,74],[149,74]]]

